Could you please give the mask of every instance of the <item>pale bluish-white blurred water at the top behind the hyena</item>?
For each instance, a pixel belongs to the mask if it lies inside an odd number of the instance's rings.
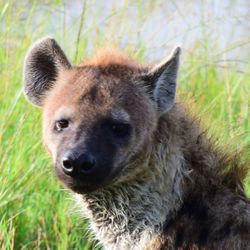
[[[65,1],[64,25],[70,37],[78,30],[71,29],[79,23],[83,2]],[[139,3],[138,3],[139,2]],[[57,14],[53,16],[56,25]],[[84,25],[81,36],[95,40],[97,33],[104,41],[114,41],[120,47],[135,50],[146,47],[146,57],[157,59],[176,44],[190,50],[197,43],[209,43],[208,54],[231,49],[225,58],[246,60],[250,51],[250,1],[86,1]],[[238,47],[239,45],[241,45]],[[206,46],[205,46],[206,47]],[[91,44],[88,44],[91,50]]]

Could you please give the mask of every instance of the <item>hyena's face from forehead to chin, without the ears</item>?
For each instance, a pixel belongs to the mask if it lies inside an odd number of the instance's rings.
[[[44,141],[59,179],[85,192],[114,181],[150,139],[154,106],[132,80],[98,67],[63,75],[45,100]]]

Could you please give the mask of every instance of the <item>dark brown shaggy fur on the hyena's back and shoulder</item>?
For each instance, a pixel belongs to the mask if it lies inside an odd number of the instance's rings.
[[[179,118],[177,113],[166,116],[159,134],[181,138],[190,174],[183,179],[181,208],[147,249],[249,249],[250,202],[243,191],[248,163],[222,152],[186,111]]]

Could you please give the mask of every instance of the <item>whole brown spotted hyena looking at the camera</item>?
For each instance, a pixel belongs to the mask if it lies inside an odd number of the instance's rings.
[[[175,101],[179,56],[145,66],[105,51],[72,66],[51,38],[27,53],[56,176],[105,249],[250,249],[244,166]]]

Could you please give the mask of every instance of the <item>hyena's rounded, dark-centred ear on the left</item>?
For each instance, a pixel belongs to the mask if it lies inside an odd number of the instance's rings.
[[[23,85],[27,99],[41,106],[43,97],[53,86],[59,71],[70,68],[70,62],[54,39],[37,41],[24,60]]]

